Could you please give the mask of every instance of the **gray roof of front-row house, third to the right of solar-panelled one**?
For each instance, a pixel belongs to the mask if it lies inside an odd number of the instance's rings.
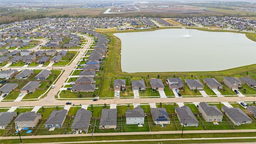
[[[228,108],[227,106],[222,106],[222,110],[228,114],[235,122],[247,122],[252,121],[252,119],[247,116],[240,108]]]

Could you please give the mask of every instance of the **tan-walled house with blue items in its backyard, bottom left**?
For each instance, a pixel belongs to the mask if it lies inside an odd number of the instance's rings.
[[[32,128],[36,126],[41,118],[41,113],[25,112],[20,113],[14,122],[17,123],[19,128]]]

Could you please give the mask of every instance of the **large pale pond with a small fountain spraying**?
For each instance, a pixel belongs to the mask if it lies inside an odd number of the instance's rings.
[[[256,64],[256,42],[245,34],[165,29],[114,34],[124,72],[217,71]]]

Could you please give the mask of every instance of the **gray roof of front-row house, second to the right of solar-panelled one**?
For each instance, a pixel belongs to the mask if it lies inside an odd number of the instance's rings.
[[[207,114],[207,116],[210,116],[210,115],[223,115],[222,112],[217,108],[217,106],[215,105],[211,105],[209,106],[208,103],[206,102],[200,102],[199,103],[200,107],[202,108],[202,110],[204,110],[204,112]]]

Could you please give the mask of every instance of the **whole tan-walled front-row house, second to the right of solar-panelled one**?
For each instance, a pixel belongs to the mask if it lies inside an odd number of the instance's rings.
[[[199,112],[206,122],[221,122],[223,118],[222,112],[215,105],[209,106],[206,102],[199,103]]]

